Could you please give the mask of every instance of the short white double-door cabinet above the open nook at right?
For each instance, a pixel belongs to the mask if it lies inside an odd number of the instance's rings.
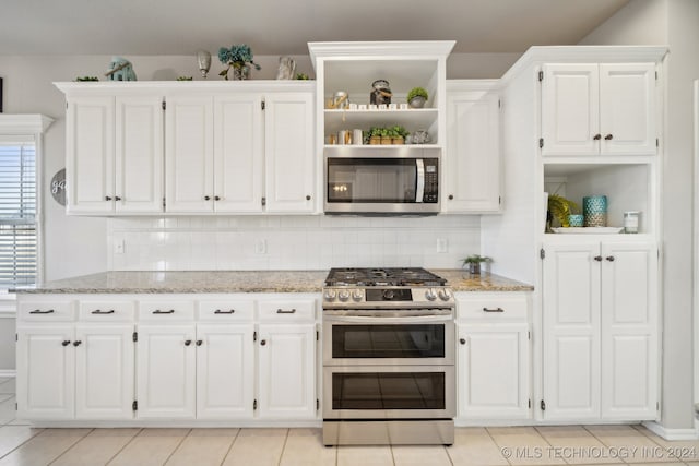
[[[655,63],[542,67],[543,155],[656,153]]]

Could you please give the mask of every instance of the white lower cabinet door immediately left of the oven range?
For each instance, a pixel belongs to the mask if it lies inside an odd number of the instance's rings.
[[[259,417],[313,419],[315,324],[261,324],[259,328]]]

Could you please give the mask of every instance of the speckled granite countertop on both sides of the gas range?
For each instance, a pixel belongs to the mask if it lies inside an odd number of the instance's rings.
[[[531,285],[493,274],[431,270],[454,291],[526,291]],[[320,292],[328,271],[103,272],[16,289],[17,294]]]

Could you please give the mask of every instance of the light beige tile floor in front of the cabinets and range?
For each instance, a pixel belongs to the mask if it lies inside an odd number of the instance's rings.
[[[14,379],[0,378],[0,466],[699,466],[699,441],[641,426],[472,427],[450,447],[325,447],[320,429],[35,429],[14,403]]]

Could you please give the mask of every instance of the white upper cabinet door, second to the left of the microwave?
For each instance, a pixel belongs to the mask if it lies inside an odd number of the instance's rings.
[[[214,208],[262,212],[262,97],[214,97]]]

